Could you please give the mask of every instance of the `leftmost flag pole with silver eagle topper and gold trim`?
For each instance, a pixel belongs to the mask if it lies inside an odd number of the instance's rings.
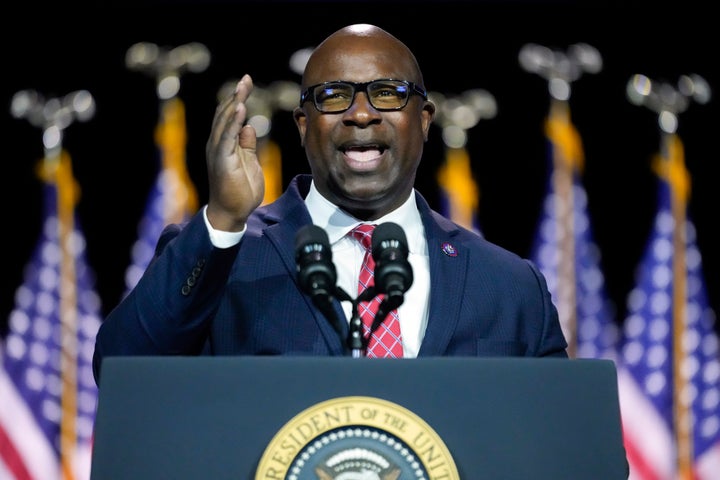
[[[78,297],[75,268],[75,207],[80,188],[72,173],[70,155],[62,147],[63,130],[74,120],[87,121],[95,113],[95,101],[86,90],[63,98],[45,100],[39,93],[23,90],[15,94],[11,106],[16,118],[27,118],[43,129],[44,158],[38,176],[55,185],[57,228],[60,246],[60,376],[62,385],[60,418],[60,468],[62,478],[73,480],[73,459],[77,446],[78,411]]]

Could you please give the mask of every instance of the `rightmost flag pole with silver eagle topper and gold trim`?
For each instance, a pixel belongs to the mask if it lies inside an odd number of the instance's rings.
[[[692,414],[693,389],[687,365],[691,357],[686,332],[688,319],[688,265],[687,208],[691,192],[691,178],[685,165],[682,141],[677,135],[678,114],[685,111],[691,99],[706,103],[710,88],[699,75],[683,75],[677,86],[656,82],[636,74],[627,84],[627,97],[636,104],[646,106],[658,114],[661,130],[660,153],[653,159],[653,170],[670,188],[673,219],[672,257],[672,409],[676,444],[676,469],[679,480],[693,480],[694,473],[694,419]]]

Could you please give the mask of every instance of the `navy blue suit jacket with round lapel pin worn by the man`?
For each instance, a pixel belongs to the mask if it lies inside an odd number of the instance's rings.
[[[303,201],[310,179],[296,177],[277,201],[258,208],[232,248],[211,244],[201,212],[169,225],[136,288],[100,327],[96,379],[110,355],[344,355],[347,322],[338,334],[296,280],[295,234],[312,222]],[[566,357],[539,270],[415,195],[431,279],[418,355]]]

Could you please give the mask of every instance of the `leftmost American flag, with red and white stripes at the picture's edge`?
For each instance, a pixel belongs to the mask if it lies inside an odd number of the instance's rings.
[[[45,161],[42,236],[0,344],[0,478],[90,476],[101,302],[75,219],[70,158]]]

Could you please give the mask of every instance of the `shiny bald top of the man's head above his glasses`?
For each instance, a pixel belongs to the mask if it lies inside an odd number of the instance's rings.
[[[305,66],[302,86],[333,80],[372,80],[362,74],[367,73],[364,65],[373,59],[395,66],[394,71],[388,71],[388,78],[424,85],[420,66],[407,45],[380,27],[360,23],[335,31],[315,48]]]

